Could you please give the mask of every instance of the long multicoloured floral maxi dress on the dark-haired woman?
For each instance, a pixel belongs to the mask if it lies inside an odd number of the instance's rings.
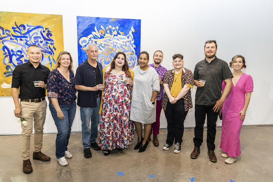
[[[102,150],[127,148],[134,140],[134,124],[129,120],[131,89],[126,75],[105,74],[105,89],[98,145]]]

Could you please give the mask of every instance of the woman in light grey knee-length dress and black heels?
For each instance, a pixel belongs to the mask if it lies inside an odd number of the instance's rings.
[[[148,145],[148,137],[152,123],[156,121],[156,97],[160,89],[156,70],[148,66],[149,54],[141,52],[138,66],[133,68],[134,86],[132,91],[130,120],[134,121],[137,131],[137,145],[135,150],[144,152]],[[142,137],[142,123],[144,124],[144,138]]]

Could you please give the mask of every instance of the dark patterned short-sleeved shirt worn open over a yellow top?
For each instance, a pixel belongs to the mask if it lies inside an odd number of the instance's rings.
[[[174,82],[174,77],[175,77],[174,69],[168,70],[164,76],[163,84],[168,84],[170,90]],[[182,81],[182,85],[181,85],[182,88],[185,84],[194,85],[193,72],[189,69],[183,68],[181,81]],[[169,101],[169,98],[166,95],[166,93],[164,93],[162,104],[161,104],[164,111],[166,110],[168,101]],[[192,95],[191,95],[191,90],[189,90],[188,93],[184,96],[185,111],[188,111],[192,107],[193,107]]]

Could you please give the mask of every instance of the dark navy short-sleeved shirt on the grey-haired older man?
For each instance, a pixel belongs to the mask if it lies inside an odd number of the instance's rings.
[[[98,63],[98,70],[100,73],[100,83],[102,83],[102,65]],[[74,83],[77,85],[84,85],[94,87],[97,84],[96,71],[86,60],[82,62],[76,71]],[[78,106],[80,107],[96,107],[97,106],[97,91],[78,91]]]

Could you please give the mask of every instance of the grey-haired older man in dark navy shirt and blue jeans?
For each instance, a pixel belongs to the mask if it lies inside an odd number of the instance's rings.
[[[76,72],[75,88],[78,90],[78,106],[80,106],[81,132],[83,153],[85,158],[91,158],[90,147],[100,150],[98,137],[99,106],[101,100],[102,65],[97,61],[98,47],[90,44],[86,47],[88,59],[82,62]],[[89,127],[91,122],[91,126]]]

